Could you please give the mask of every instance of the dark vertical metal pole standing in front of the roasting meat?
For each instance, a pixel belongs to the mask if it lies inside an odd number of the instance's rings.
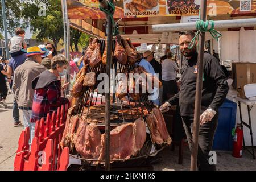
[[[106,0],[99,0],[101,7],[108,9]],[[113,3],[113,0],[109,2]],[[112,39],[113,39],[113,24],[109,15],[107,16],[107,64],[106,74],[108,76],[108,93],[105,93],[105,111],[106,111],[106,123],[105,123],[105,171],[110,171],[110,69],[112,65]]]

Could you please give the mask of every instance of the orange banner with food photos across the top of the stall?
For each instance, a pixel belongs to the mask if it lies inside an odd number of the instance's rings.
[[[198,15],[200,0],[115,0],[114,18]],[[105,19],[98,0],[67,0],[69,19]],[[208,15],[256,16],[256,0],[208,0]]]

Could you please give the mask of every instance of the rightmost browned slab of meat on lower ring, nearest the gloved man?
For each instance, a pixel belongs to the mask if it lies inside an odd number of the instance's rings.
[[[170,134],[167,131],[166,122],[164,121],[162,112],[158,108],[153,108],[152,114],[154,114],[155,116],[155,120],[157,121],[156,127],[159,133],[161,134],[164,142],[170,145],[172,140],[171,140]]]

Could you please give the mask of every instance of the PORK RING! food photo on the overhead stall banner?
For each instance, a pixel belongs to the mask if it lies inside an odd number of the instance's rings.
[[[159,15],[159,0],[124,0],[125,17]]]

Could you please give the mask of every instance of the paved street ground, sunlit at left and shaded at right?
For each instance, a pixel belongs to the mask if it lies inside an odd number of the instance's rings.
[[[14,127],[12,118],[12,101],[13,95],[7,96],[8,109],[0,109],[0,171],[13,170],[15,151],[18,148],[18,140],[23,127]],[[21,112],[20,112],[21,114]],[[23,120],[20,115],[21,121]],[[179,165],[178,147],[176,151],[171,151],[168,147],[160,152],[162,162],[155,164],[155,170],[189,170],[191,155],[188,147],[184,149],[183,164]],[[243,158],[233,158],[232,151],[217,152],[217,169],[218,170],[255,170],[256,160],[243,150]]]

